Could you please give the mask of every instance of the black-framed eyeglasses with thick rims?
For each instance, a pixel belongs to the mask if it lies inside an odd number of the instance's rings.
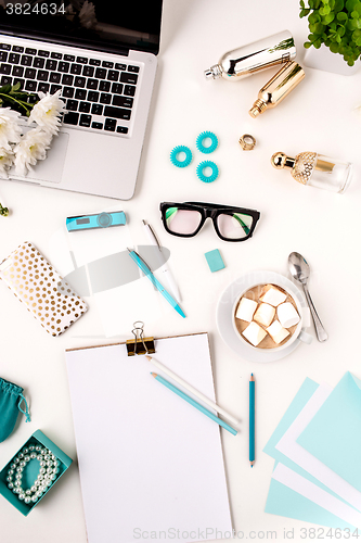
[[[260,217],[255,210],[203,202],[163,202],[162,220],[172,236],[192,238],[209,217],[217,235],[223,241],[245,241],[250,238]]]

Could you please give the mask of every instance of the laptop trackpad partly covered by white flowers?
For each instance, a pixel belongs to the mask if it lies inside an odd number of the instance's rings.
[[[35,166],[33,166],[33,172],[29,172],[27,176],[18,176],[14,174],[14,168],[10,169],[11,179],[20,179],[22,181],[35,180],[48,181],[48,182],[61,182],[63,176],[63,168],[65,163],[66,150],[69,140],[69,135],[60,132],[54,136],[51,142],[51,148],[47,151],[47,159],[43,161],[38,161]]]

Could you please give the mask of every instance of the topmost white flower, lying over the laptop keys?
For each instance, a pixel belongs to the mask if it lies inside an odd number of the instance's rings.
[[[60,93],[60,90],[55,94],[39,92],[41,100],[34,105],[28,118],[29,123],[34,121],[51,136],[57,134],[61,125],[60,115],[65,109],[63,100],[59,98]]]

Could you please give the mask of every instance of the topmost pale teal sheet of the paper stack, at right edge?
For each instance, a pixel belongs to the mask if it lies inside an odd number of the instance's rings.
[[[361,492],[361,381],[349,371],[297,439]]]

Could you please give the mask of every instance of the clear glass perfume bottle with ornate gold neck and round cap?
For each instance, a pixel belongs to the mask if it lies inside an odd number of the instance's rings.
[[[295,159],[284,153],[274,153],[271,164],[276,169],[289,169],[296,181],[302,185],[326,189],[341,194],[347,189],[352,172],[352,164],[330,159],[323,154],[305,152]]]

